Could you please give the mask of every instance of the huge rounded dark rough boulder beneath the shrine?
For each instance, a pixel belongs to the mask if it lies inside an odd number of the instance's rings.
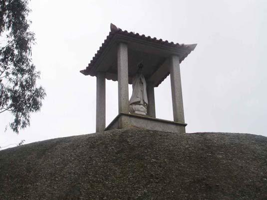
[[[115,129],[0,151],[0,199],[267,199],[267,137]]]

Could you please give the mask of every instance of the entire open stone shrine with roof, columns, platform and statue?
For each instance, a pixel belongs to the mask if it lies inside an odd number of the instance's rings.
[[[96,77],[96,132],[125,127],[185,133],[180,63],[197,44],[178,44],[123,31],[110,32],[85,70]],[[170,74],[173,121],[156,118],[154,88]],[[105,80],[118,81],[118,115],[106,127]],[[133,84],[129,100],[128,84]]]

